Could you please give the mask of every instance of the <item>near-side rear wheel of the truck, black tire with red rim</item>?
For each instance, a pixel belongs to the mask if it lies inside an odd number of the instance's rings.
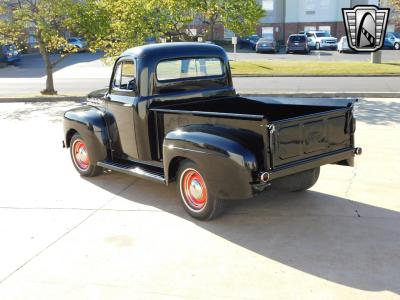
[[[197,198],[191,192],[192,183],[194,187],[200,186],[199,189],[193,188],[197,192]],[[200,190],[201,192],[199,192]],[[224,201],[217,199],[215,194],[207,187],[206,174],[190,160],[182,161],[179,166],[177,191],[184,209],[195,219],[212,220],[224,210]]]

